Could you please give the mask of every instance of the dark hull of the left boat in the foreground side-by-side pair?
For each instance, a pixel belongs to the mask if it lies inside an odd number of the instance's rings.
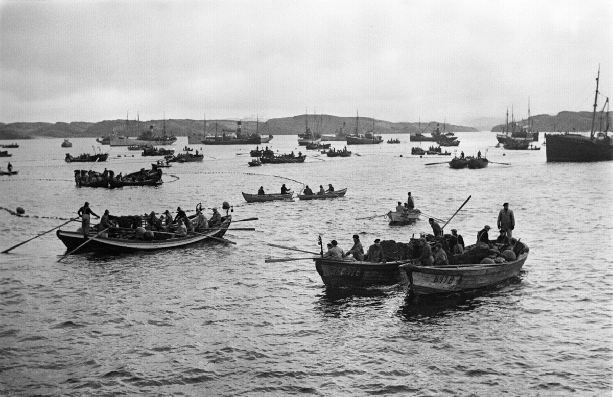
[[[357,260],[315,259],[315,268],[327,287],[364,288],[402,282],[398,266],[405,262],[372,263]]]

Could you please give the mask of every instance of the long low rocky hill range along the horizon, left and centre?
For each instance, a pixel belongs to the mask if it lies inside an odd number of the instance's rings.
[[[306,118],[306,120],[305,120]],[[363,134],[365,131],[373,129],[378,134],[408,134],[410,132],[432,132],[437,124],[443,129],[443,123],[390,123],[389,121],[374,120],[372,118],[359,118],[358,131]],[[79,138],[79,137],[103,137],[109,134],[127,135],[135,137],[143,130],[149,129],[153,125],[155,134],[164,134],[164,124],[166,124],[166,135],[185,137],[187,135],[204,134],[204,120],[151,120],[151,121],[127,121],[126,120],[105,120],[99,123],[0,123],[0,139],[30,139],[30,138]],[[329,115],[301,115],[286,118],[269,119],[265,123],[257,121],[243,121],[243,132],[250,134],[258,131],[262,135],[296,135],[305,131],[305,124],[313,131],[322,134],[334,134],[335,131],[343,129],[353,134],[356,129],[355,117],[338,117]],[[234,131],[237,127],[235,120],[207,120],[207,133],[215,134],[222,130]],[[474,131],[473,127],[455,126],[447,124],[446,131]]]

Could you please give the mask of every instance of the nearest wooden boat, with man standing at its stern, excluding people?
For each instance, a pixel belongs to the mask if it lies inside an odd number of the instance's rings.
[[[528,246],[513,239],[516,259],[492,264],[429,267],[407,263],[403,269],[416,295],[447,294],[481,289],[513,278],[528,258]],[[468,247],[467,247],[468,248]]]

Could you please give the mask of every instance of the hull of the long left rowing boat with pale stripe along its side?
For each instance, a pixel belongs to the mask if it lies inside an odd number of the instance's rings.
[[[220,228],[217,230],[210,230],[205,233],[197,235],[188,235],[185,237],[169,238],[167,240],[124,240],[121,238],[108,238],[97,236],[94,237],[88,244],[85,244],[82,248],[79,248],[74,253],[91,252],[96,254],[123,254],[139,251],[158,251],[160,249],[172,249],[182,248],[192,244],[200,243],[207,240],[215,240],[212,237],[221,237],[226,233],[227,227],[232,222],[232,217],[229,216],[225,219]],[[81,232],[68,232],[66,230],[59,229],[56,232],[59,240],[64,243],[68,251],[85,243],[86,239],[83,238]]]

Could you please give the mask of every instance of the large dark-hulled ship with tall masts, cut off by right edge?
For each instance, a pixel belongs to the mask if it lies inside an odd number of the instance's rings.
[[[598,80],[600,67],[596,77],[596,94],[592,112],[590,135],[581,134],[545,134],[545,153],[547,162],[592,162],[613,160],[613,138],[609,135],[610,113],[609,99],[604,107],[607,111],[600,115],[600,132],[596,131],[596,105],[598,102]]]

